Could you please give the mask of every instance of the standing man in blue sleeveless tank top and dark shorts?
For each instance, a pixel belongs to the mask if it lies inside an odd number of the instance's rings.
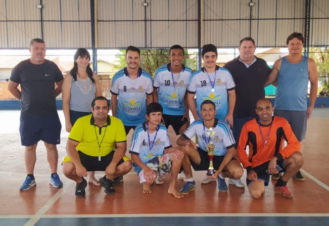
[[[311,117],[317,96],[317,70],[315,62],[302,55],[304,37],[294,32],[287,38],[289,55],[275,61],[266,85],[276,81],[274,115],[287,119],[303,150],[307,119]],[[311,83],[310,101],[307,106],[307,85]],[[279,175],[272,179],[277,179]],[[299,181],[305,178],[300,171],[294,177]]]

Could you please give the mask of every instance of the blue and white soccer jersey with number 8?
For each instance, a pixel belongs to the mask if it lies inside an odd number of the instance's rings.
[[[129,78],[127,68],[113,76],[111,94],[118,95],[117,117],[126,126],[145,122],[146,95],[152,93],[152,76],[142,68],[136,79]]]

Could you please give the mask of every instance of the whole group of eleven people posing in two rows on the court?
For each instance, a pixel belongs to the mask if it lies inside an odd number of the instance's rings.
[[[304,161],[302,141],[317,95],[316,65],[302,56],[303,43],[301,33],[289,35],[289,55],[277,60],[272,70],[254,55],[251,37],[240,41],[240,56],[224,67],[216,65],[217,48],[206,44],[202,48],[204,67],[196,72],[183,65],[184,49],[174,45],[169,51],[170,63],[160,66],[154,78],[138,66],[138,48],[129,46],[127,66],[112,79],[110,116],[110,103],[102,96],[85,49],[76,51],[74,67],[63,79],[58,67],[44,59],[43,40],[32,39],[31,58],[13,69],[8,86],[22,103],[20,134],[27,176],[20,190],[35,185],[35,150],[40,140],[48,154],[50,183],[63,186],[57,174],[61,124],[55,105],[55,97],[62,91],[65,127],[70,132],[68,156],[62,166],[64,175],[76,182],[77,197],[85,196],[88,173],[89,182],[113,194],[113,186],[133,167],[143,193],[151,193],[151,186],[163,184],[164,175],[171,173],[168,193],[182,198],[196,189],[191,166],[196,171],[208,169],[207,149],[213,143],[215,172],[205,175],[202,184],[217,181],[218,190],[227,192],[227,177],[229,184],[245,187],[240,180],[245,168],[253,198],[263,195],[270,175],[277,179],[274,191],[292,198],[286,185],[292,177],[305,179],[299,171]],[[264,98],[268,84],[277,86],[274,106]],[[189,110],[195,119],[192,123]],[[174,146],[169,125],[179,135]],[[131,129],[130,159],[125,153]],[[95,171],[105,175],[98,180]],[[184,180],[179,190],[177,177]]]

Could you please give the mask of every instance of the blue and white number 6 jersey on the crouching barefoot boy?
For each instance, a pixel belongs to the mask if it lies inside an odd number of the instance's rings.
[[[132,134],[129,153],[138,155],[143,163],[148,163],[153,159],[157,159],[156,157],[162,156],[164,154],[163,151],[171,147],[171,143],[168,136],[168,130],[166,126],[163,124],[159,124],[157,137],[154,141],[155,134],[156,132],[150,133],[150,144],[149,144],[148,133],[146,131],[146,122],[138,125]],[[152,147],[151,150],[150,150],[150,146]]]

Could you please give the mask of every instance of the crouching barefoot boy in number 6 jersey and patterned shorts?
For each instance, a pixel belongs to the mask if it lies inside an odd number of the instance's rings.
[[[160,124],[162,111],[159,103],[151,103],[147,107],[147,121],[134,129],[129,153],[139,182],[143,183],[144,194],[152,192],[154,182],[163,184],[163,180],[156,179],[158,175],[171,173],[168,193],[182,198],[175,186],[184,155],[171,147],[167,128]]]

